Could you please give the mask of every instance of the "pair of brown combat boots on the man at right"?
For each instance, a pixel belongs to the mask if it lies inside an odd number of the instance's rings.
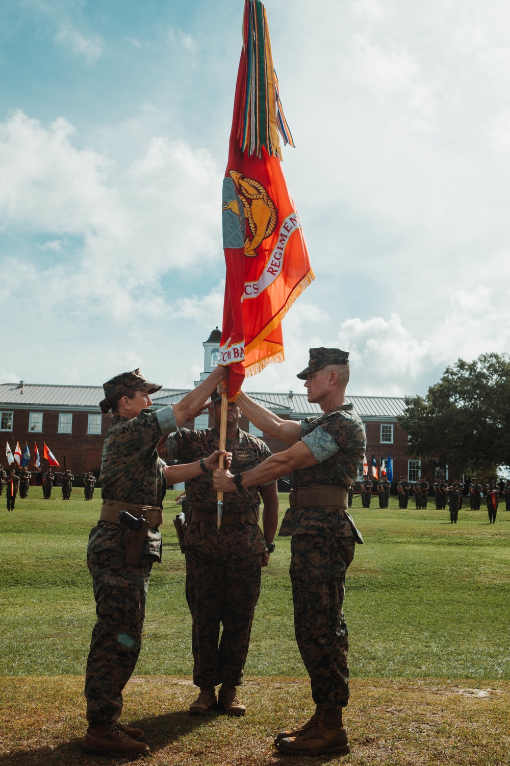
[[[284,755],[346,755],[350,748],[342,711],[317,708],[314,718],[303,733],[281,738],[278,750]]]

